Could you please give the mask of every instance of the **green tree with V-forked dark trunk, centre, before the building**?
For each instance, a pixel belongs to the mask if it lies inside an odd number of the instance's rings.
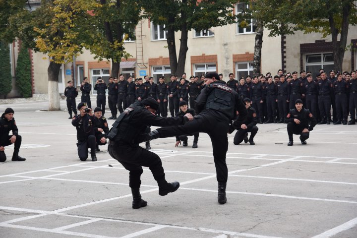
[[[237,0],[140,0],[144,17],[155,25],[165,25],[171,73],[181,76],[184,72],[188,50],[188,31],[208,30],[236,22],[233,14]],[[175,32],[181,32],[179,57],[176,53]]]

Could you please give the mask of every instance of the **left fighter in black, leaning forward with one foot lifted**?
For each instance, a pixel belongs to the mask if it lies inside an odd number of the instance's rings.
[[[158,108],[159,104],[152,98],[131,104],[120,114],[108,134],[109,154],[129,171],[129,186],[133,196],[132,208],[135,209],[147,205],[140,195],[142,166],[149,167],[159,185],[159,195],[165,196],[179,188],[179,182],[166,181],[160,157],[141,148],[135,140],[144,133],[147,126],[179,125],[184,123],[185,118],[193,119],[193,117],[187,114],[185,117],[161,118],[155,115]]]

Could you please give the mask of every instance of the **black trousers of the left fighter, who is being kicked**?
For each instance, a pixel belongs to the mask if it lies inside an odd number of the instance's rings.
[[[165,179],[160,157],[137,144],[109,141],[108,152],[129,171],[130,187],[140,187],[140,176],[143,173],[142,166],[149,167],[156,181]]]

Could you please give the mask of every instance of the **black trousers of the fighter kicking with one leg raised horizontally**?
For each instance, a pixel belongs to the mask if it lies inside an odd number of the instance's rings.
[[[210,115],[200,115],[199,118],[195,117],[184,125],[161,127],[157,130],[161,138],[190,135],[195,132],[207,133],[212,141],[217,181],[227,182],[228,168],[226,164],[226,154],[228,150],[228,127],[229,122],[217,120]]]

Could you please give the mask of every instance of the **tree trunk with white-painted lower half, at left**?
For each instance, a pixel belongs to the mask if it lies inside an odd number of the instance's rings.
[[[60,63],[50,62],[50,65],[47,69],[49,77],[49,111],[60,111],[60,93],[58,88],[60,66]]]

